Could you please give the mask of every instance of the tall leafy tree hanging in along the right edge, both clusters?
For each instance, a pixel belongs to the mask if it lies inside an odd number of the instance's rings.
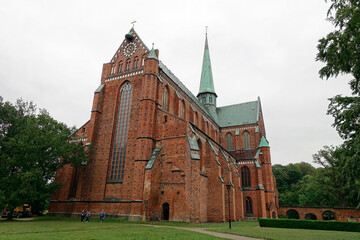
[[[342,173],[358,184],[360,176],[360,2],[330,0],[327,19],[335,30],[319,40],[317,61],[326,65],[320,69],[321,78],[339,74],[351,76],[352,96],[337,95],[330,99],[328,114],[334,117],[333,126],[344,143],[336,150],[341,156]]]

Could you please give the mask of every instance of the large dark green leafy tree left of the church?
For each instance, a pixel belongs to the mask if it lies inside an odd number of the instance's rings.
[[[50,117],[32,102],[15,105],[0,97],[0,209],[24,203],[40,213],[59,187],[56,171],[65,164],[81,166],[90,151],[71,143],[74,129]]]

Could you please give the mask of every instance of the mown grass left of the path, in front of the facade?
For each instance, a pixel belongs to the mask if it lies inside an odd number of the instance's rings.
[[[98,219],[91,219],[89,223],[81,223],[78,219],[45,217],[30,221],[0,221],[0,239],[215,240],[222,238],[173,228],[130,223],[125,220],[108,220],[100,223]]]

